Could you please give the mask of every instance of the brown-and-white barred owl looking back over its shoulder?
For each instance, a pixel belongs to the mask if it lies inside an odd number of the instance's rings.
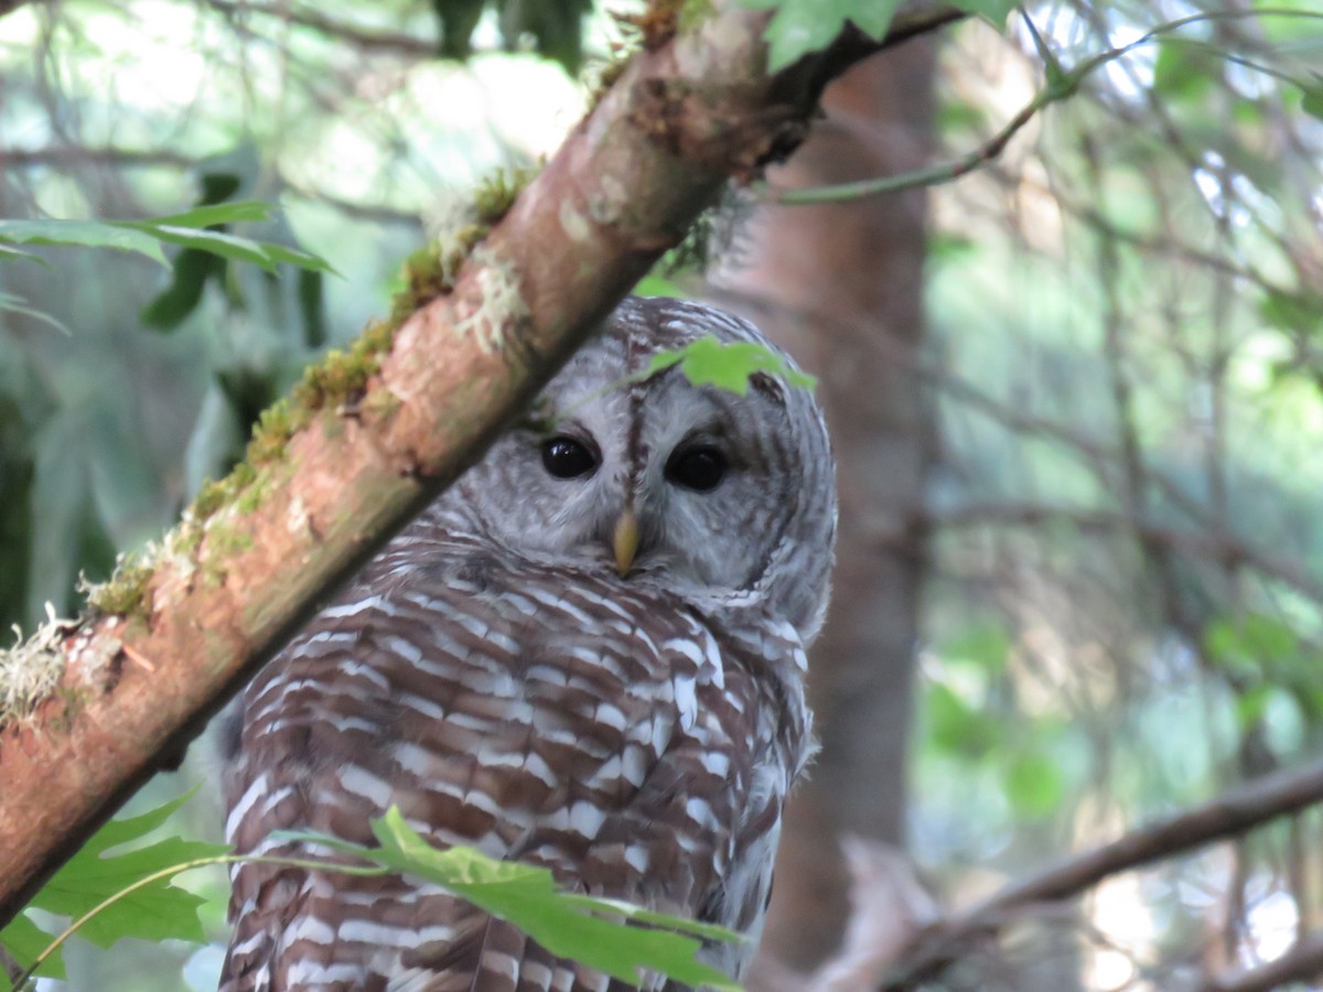
[[[646,374],[705,335],[763,343],[705,306],[626,300],[258,675],[225,733],[238,852],[298,853],[278,829],[372,843],[397,806],[437,845],[757,938],[812,750],[833,466],[803,389]],[[622,987],[407,878],[232,877],[225,992]],[[704,955],[738,976],[751,947]]]

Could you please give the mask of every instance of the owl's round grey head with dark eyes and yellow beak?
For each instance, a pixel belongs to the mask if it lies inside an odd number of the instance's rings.
[[[640,378],[658,352],[706,335],[767,345],[712,307],[624,300],[452,499],[516,552],[766,607],[807,643],[836,532],[827,429],[812,395],[774,376],[744,395],[676,366]]]

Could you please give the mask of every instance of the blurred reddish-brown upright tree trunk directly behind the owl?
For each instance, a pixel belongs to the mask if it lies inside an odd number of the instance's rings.
[[[933,45],[856,66],[824,94],[826,120],[769,180],[848,183],[919,168],[933,127]],[[836,948],[849,914],[840,839],[900,844],[905,753],[923,578],[922,505],[931,422],[913,374],[922,344],[925,194],[769,206],[753,257],[720,278],[726,294],[822,377],[841,495],[831,614],[810,665],[823,750],[783,825],[765,952],[808,971]],[[742,259],[740,246],[736,265]],[[882,545],[878,532],[906,530]]]

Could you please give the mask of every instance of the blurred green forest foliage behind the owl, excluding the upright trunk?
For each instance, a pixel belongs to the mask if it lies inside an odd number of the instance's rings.
[[[938,451],[902,508],[929,556],[906,817],[951,902],[1318,754],[1323,20],[1259,7],[1029,4],[1066,67],[1218,16],[1099,67],[930,193],[914,373]],[[61,0],[0,20],[0,217],[258,198],[278,220],[235,233],[337,272],[0,258],[5,627],[77,611],[79,574],[164,530],[310,358],[388,310],[455,196],[554,149],[626,33],[607,8]],[[1023,17],[946,30],[938,157],[1043,79]],[[143,802],[212,783],[177,829],[217,837],[216,770],[193,750]],[[1004,954],[1060,951],[1081,988],[1273,956],[1323,926],[1320,832],[1314,811],[1121,876],[1085,926],[1041,923],[1064,943],[1036,930]],[[224,942],[224,876],[188,884]],[[214,988],[220,954],[74,948],[70,980]],[[967,987],[999,987],[980,967]]]

